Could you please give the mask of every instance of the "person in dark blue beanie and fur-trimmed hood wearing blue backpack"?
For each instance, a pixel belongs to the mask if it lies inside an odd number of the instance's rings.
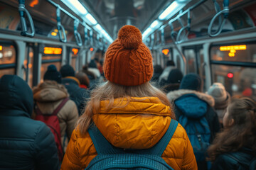
[[[202,153],[205,155],[204,153],[207,152],[206,145],[209,145],[215,138],[216,133],[220,131],[220,124],[218,115],[213,109],[215,105],[214,98],[208,94],[202,93],[202,87],[203,82],[198,74],[186,74],[181,80],[179,89],[169,92],[167,97],[171,103],[174,103],[175,115],[178,122],[181,123],[188,132],[188,137],[189,140],[191,140],[198,162],[198,169],[204,170],[208,169],[208,163],[210,162],[206,162],[206,157],[202,157],[201,155]],[[192,125],[192,127],[186,128],[186,125]],[[201,125],[205,129],[202,130]],[[193,129],[194,127],[196,128]],[[194,131],[196,131],[196,137],[193,133]],[[206,142],[205,146],[201,145],[202,139],[203,142]],[[197,156],[195,149],[198,147],[196,146],[198,141],[203,151],[198,151]]]

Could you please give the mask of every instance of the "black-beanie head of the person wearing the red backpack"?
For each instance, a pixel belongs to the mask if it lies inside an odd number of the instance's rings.
[[[61,84],[61,74],[57,71],[55,65],[51,64],[47,67],[47,71],[43,75],[43,80],[52,80],[56,81],[58,84]]]

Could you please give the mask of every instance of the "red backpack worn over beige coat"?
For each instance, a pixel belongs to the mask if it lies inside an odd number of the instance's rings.
[[[51,115],[43,115],[40,111],[38,106],[35,106],[36,118],[35,120],[40,120],[50,128],[51,132],[53,132],[54,140],[58,149],[58,157],[59,160],[62,161],[63,159],[63,147],[61,145],[61,135],[60,135],[60,123],[57,117],[57,113],[60,111],[61,108],[67,103],[69,98],[64,98],[63,101],[60,102],[57,108],[53,111]]]

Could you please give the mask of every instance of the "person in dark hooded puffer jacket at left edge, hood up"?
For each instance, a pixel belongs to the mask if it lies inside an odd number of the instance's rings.
[[[14,75],[0,79],[0,169],[58,169],[53,133],[32,120],[33,94]]]

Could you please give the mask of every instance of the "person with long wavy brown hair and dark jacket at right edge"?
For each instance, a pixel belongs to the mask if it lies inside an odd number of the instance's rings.
[[[255,170],[255,101],[251,98],[233,99],[225,112],[223,126],[223,132],[217,135],[213,145],[208,149],[213,170]]]

